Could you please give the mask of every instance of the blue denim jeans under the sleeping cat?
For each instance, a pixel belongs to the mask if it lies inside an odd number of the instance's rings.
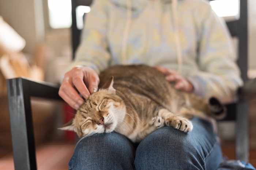
[[[162,127],[138,145],[118,133],[95,134],[76,145],[69,169],[217,169],[221,147],[209,122],[193,118],[189,133]]]

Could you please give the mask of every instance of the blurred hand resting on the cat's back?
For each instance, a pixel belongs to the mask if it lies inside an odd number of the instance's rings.
[[[192,92],[194,87],[187,79],[182,77],[178,72],[169,68],[163,68],[161,66],[156,67],[157,70],[165,74],[165,79],[169,82],[174,82],[174,88],[177,90],[183,90],[186,92]]]

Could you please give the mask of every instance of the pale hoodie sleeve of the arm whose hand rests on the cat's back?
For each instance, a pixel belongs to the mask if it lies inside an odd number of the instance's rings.
[[[209,4],[207,11],[199,24],[199,70],[192,72],[188,80],[193,84],[195,94],[206,100],[215,96],[228,103],[234,100],[237,88],[242,85],[240,71],[225,21],[212,11]]]

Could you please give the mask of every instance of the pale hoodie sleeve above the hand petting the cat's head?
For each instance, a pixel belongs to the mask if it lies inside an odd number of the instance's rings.
[[[85,25],[82,32],[75,60],[69,70],[75,66],[88,66],[97,73],[104,70],[109,63],[110,54],[107,44],[108,12],[107,2],[94,0],[91,11],[86,14]]]

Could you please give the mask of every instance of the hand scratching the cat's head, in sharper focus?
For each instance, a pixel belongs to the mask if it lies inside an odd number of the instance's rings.
[[[78,109],[84,99],[98,90],[99,76],[90,67],[74,67],[64,75],[59,95],[72,108]]]

